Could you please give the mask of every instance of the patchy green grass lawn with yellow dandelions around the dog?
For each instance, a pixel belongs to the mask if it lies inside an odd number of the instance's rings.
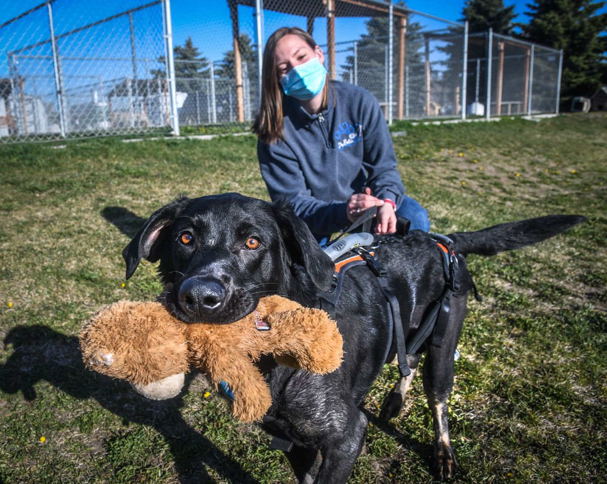
[[[538,246],[469,258],[484,301],[470,300],[455,364],[453,481],[607,482],[607,116],[393,129],[408,132],[395,138],[399,170],[433,230],[589,218]],[[293,482],[268,435],[203,397],[201,375],[180,398],[144,400],[85,371],[76,339],[102,304],[160,291],[145,262],[121,286],[121,250],[161,204],[182,192],[268,198],[256,139],[66,144],[0,147],[0,482]],[[376,418],[397,371],[385,366],[367,397],[352,483],[432,481],[421,380],[400,417]]]

